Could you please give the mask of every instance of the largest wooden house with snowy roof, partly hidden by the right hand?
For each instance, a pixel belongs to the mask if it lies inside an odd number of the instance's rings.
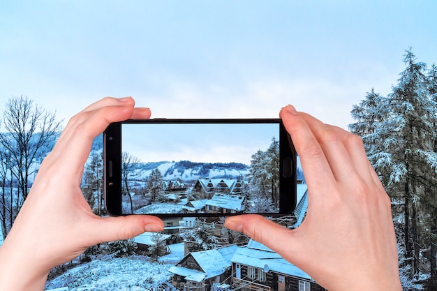
[[[253,240],[235,251],[232,274],[232,290],[326,291],[304,271]]]

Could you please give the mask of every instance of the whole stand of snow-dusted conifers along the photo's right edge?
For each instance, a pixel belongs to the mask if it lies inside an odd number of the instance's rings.
[[[353,106],[350,131],[392,199],[404,290],[437,290],[437,71],[411,49],[403,62],[390,94]]]

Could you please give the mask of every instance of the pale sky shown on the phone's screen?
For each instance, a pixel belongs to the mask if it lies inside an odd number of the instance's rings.
[[[256,151],[279,140],[279,124],[124,124],[121,149],[143,163],[251,164]]]

